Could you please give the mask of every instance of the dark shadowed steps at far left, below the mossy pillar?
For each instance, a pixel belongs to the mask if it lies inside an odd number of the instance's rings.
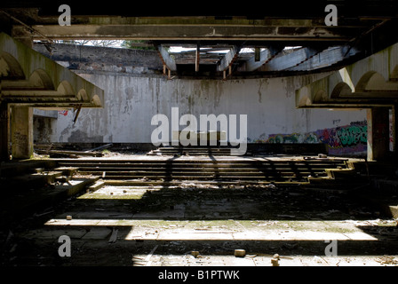
[[[91,185],[99,177],[75,177],[77,168],[47,161],[2,164],[0,224],[55,205]]]

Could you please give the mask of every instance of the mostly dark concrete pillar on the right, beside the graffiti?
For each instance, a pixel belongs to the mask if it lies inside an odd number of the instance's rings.
[[[368,109],[368,160],[382,161],[389,156],[389,114],[387,107]]]

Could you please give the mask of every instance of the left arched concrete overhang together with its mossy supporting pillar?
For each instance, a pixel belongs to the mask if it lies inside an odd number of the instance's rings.
[[[29,41],[28,41],[29,42]],[[12,105],[12,156],[33,154],[33,106],[101,107],[103,91],[24,43],[0,33],[1,160],[9,160],[8,106]]]

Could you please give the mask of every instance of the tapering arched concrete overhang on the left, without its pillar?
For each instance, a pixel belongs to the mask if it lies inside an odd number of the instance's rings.
[[[102,107],[104,91],[52,59],[0,33],[0,97],[10,104]],[[36,105],[34,105],[36,104]]]

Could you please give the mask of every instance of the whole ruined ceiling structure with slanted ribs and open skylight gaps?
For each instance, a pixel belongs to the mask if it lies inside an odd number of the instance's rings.
[[[169,76],[224,79],[337,70],[398,42],[398,4],[389,0],[237,5],[175,1],[140,3],[139,8],[117,1],[85,6],[69,1],[70,26],[58,22],[60,4],[0,4],[0,22],[14,38],[47,43],[144,41],[159,52]],[[328,4],[337,8],[337,26],[325,22]],[[173,46],[190,50],[171,52]]]

